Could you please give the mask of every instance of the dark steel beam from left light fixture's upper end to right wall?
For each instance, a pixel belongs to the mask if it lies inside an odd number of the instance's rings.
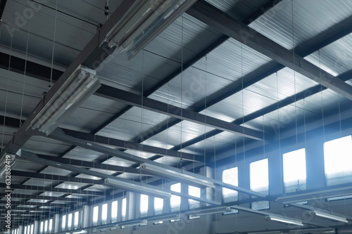
[[[246,136],[255,140],[263,140],[263,133],[260,131],[249,129],[244,126],[239,126],[237,124],[232,124],[230,122],[216,119],[214,117],[202,115],[198,112],[184,108],[179,108],[175,105],[169,105],[168,103],[163,103],[158,100],[139,96],[137,94],[123,91],[121,89],[116,89],[111,86],[101,85],[95,94],[103,98],[119,101],[128,105],[136,106],[138,108],[143,108],[145,110],[151,110],[153,112],[158,112],[163,115],[175,117],[177,119],[183,119],[196,124],[210,126],[214,129],[227,131],[232,134],[239,134],[241,136]]]

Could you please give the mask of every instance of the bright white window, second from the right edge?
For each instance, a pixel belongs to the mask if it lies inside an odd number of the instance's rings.
[[[306,190],[306,150],[295,150],[282,155],[285,192]]]

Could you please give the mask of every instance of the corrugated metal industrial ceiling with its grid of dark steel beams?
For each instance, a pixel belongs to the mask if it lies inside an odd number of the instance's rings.
[[[199,175],[305,142],[321,126],[325,134],[351,128],[352,1],[196,1],[129,58],[103,37],[133,2],[108,1],[106,20],[105,1],[0,1],[1,156],[23,154],[11,168],[14,213],[23,215],[14,226],[129,190],[103,186],[105,178],[160,188],[172,181],[142,163]],[[81,64],[95,70],[99,89],[49,136],[32,129]],[[266,212],[282,214],[276,198],[264,196]]]

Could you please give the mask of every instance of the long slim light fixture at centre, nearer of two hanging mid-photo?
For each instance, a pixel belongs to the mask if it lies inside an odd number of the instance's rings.
[[[213,182],[194,176],[188,171],[184,171],[183,169],[168,169],[167,167],[159,167],[149,163],[140,164],[140,168],[142,171],[148,172],[150,174],[156,174],[171,179],[177,178],[177,180],[185,181],[186,183],[215,188]]]

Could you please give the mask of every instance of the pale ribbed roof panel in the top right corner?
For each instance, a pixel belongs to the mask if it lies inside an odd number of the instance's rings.
[[[292,49],[344,20],[351,13],[351,1],[284,0],[252,22],[250,27],[285,48]]]

